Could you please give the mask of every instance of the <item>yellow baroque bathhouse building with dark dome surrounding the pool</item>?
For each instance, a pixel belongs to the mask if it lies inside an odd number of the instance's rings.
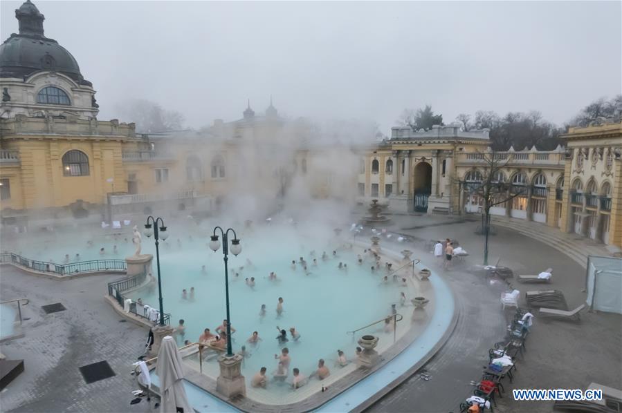
[[[351,147],[322,139],[303,119],[283,119],[271,102],[262,115],[248,104],[240,119],[201,131],[140,134],[134,124],[97,119],[93,85],[44,35],[33,3],[15,15],[19,34],[0,46],[3,228],[111,222],[156,207],[270,213],[290,195],[351,204],[377,198],[401,213],[482,211],[468,186],[491,153],[486,130],[394,127],[390,139]],[[497,179],[518,196],[491,213],[622,247],[622,124],[607,122],[570,128],[554,151],[495,153],[504,160]]]

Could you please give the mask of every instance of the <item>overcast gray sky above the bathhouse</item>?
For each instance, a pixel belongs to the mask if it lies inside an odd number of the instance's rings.
[[[542,111],[562,124],[621,90],[621,2],[42,1],[98,91],[100,119],[144,98],[189,126],[256,112],[372,119],[404,108],[450,122],[478,109]],[[1,37],[17,32],[1,1]]]

